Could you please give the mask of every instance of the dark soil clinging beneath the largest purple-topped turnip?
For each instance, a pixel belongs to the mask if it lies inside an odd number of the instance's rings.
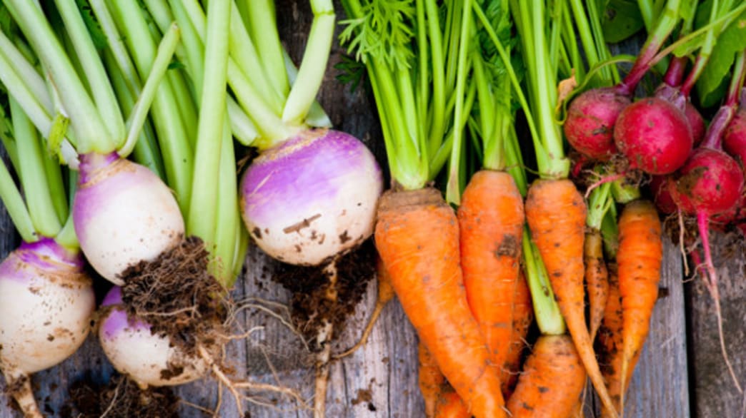
[[[304,267],[279,263],[272,279],[292,292],[290,309],[295,327],[314,340],[329,320],[334,329],[345,322],[363,299],[369,279],[375,273],[376,253],[372,239],[340,257],[336,262],[336,288],[330,289],[327,265]],[[336,292],[336,301],[328,297]]]

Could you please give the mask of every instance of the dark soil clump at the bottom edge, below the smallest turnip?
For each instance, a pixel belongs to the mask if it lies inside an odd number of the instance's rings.
[[[140,390],[130,379],[116,375],[104,385],[78,381],[69,389],[63,417],[178,418],[179,399],[169,387]]]

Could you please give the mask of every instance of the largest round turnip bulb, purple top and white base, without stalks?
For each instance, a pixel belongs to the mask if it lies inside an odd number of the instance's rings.
[[[380,167],[358,139],[305,130],[254,159],[240,191],[242,217],[269,256],[319,265],[373,232]]]

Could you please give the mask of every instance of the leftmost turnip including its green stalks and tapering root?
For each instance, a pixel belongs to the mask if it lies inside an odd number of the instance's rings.
[[[72,232],[60,168],[12,98],[10,115],[14,145],[8,146],[10,133],[0,136],[16,162],[24,197],[4,164],[0,197],[23,241],[0,264],[0,371],[24,414],[42,417],[29,376],[81,346],[95,297]]]

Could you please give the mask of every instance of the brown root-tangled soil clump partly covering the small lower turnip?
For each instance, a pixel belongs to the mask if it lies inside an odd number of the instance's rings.
[[[128,314],[140,317],[157,335],[193,354],[196,343],[212,345],[225,335],[225,289],[207,271],[207,250],[189,237],[152,262],[122,273],[122,300]]]

